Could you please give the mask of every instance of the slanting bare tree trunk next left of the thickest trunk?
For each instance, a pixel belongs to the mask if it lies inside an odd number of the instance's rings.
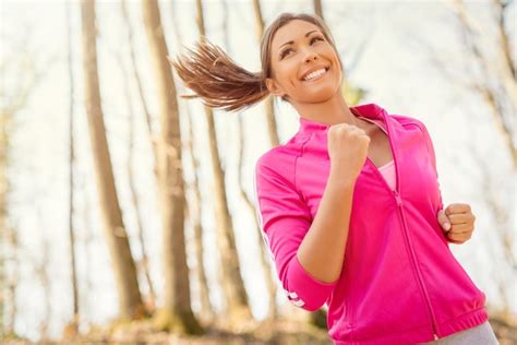
[[[122,222],[106,139],[97,71],[95,1],[81,2],[83,28],[83,69],[85,107],[93,148],[94,170],[99,193],[100,214],[113,266],[119,298],[119,316],[134,319],[144,314],[136,270]]]

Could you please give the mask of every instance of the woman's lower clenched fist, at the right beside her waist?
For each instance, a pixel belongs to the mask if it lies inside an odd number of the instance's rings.
[[[461,245],[472,237],[476,216],[469,204],[450,204],[438,211],[437,219],[449,242]]]

